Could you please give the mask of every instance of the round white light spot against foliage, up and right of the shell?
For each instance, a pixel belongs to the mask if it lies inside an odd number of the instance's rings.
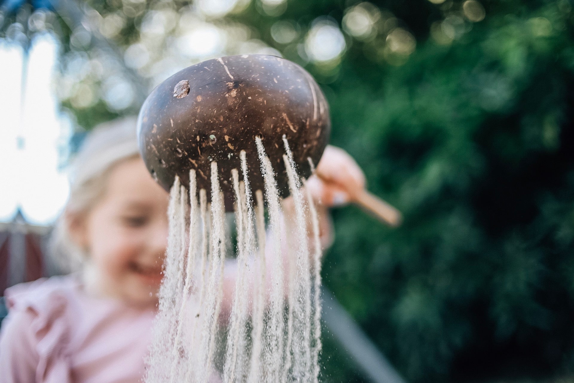
[[[345,37],[333,22],[317,22],[305,39],[305,52],[314,61],[336,59],[345,49]]]

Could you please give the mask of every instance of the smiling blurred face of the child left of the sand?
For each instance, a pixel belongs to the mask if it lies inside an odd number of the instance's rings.
[[[82,225],[88,288],[133,304],[154,304],[167,245],[167,209],[168,194],[141,158],[117,164]]]

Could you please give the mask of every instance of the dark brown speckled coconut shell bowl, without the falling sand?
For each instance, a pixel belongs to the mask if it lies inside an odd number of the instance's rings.
[[[241,150],[251,189],[264,189],[256,136],[285,197],[282,137],[299,175],[307,178],[307,158],[319,162],[330,130],[327,102],[311,75],[289,60],[266,55],[221,57],[185,68],[152,91],[138,118],[139,149],[158,183],[169,190],[178,175],[187,185],[189,169],[196,169],[197,186],[209,196],[211,162],[217,161],[227,210],[235,200],[231,169],[241,169]]]

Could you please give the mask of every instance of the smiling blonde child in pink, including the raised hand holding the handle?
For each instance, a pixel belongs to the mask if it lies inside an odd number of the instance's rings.
[[[333,147],[318,168],[328,181],[312,177],[309,187],[322,202],[327,244],[325,207],[345,203],[364,187],[364,176]],[[53,234],[55,252],[72,273],[6,290],[0,381],[141,381],[162,278],[167,207],[168,194],[139,157],[135,119],[96,127],[73,162],[69,200]],[[234,268],[228,270],[226,297],[234,286]]]

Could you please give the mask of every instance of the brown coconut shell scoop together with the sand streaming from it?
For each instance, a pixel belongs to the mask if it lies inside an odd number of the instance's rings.
[[[170,200],[146,383],[318,383],[321,245],[305,180],[330,131],[319,85],[276,56],[206,60],[148,96],[139,149]]]

